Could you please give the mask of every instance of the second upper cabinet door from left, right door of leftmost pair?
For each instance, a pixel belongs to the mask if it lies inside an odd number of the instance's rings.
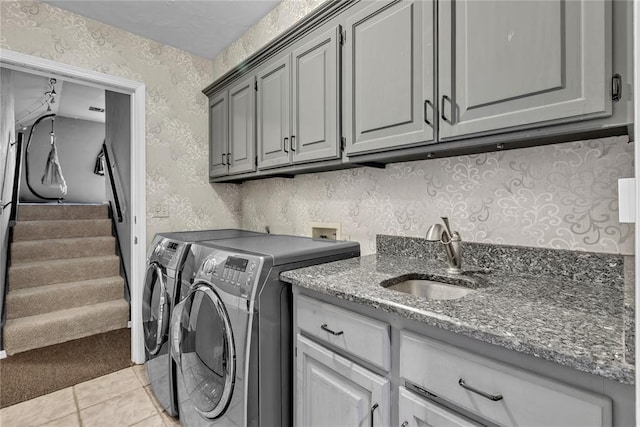
[[[255,170],[255,81],[251,76],[229,89],[229,174]]]

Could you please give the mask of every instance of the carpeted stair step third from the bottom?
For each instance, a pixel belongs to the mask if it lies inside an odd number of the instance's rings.
[[[72,258],[53,261],[21,262],[9,267],[10,290],[53,285],[55,283],[112,277],[120,274],[117,255]]]

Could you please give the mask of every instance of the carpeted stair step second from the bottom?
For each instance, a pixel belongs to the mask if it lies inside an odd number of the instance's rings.
[[[120,276],[11,290],[6,299],[7,319],[114,301],[123,295]]]

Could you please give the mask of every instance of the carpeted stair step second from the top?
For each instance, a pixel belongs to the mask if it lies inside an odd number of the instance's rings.
[[[111,236],[111,220],[18,221],[13,227],[14,242],[96,236]]]

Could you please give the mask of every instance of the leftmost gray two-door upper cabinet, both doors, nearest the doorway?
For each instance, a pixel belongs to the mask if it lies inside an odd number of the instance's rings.
[[[209,177],[255,171],[255,77],[209,102]]]

